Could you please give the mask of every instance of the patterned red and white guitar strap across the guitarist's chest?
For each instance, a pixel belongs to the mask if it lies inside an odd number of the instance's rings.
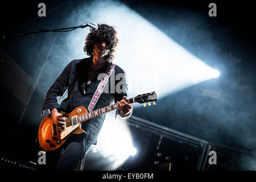
[[[89,112],[93,110],[94,106],[96,105],[96,103],[97,103],[97,101],[98,101],[98,98],[100,98],[100,96],[101,96],[101,94],[102,94],[102,92],[103,92],[103,90],[104,90],[104,87],[105,87],[105,85],[106,85],[106,82],[108,81],[108,79],[109,79],[111,73],[113,72],[114,67],[115,67],[115,64],[112,63],[112,62],[110,62],[109,67],[108,67],[108,69],[107,69],[107,71],[106,71],[105,76],[102,77],[101,82],[100,82],[100,84],[98,85],[98,88],[96,89],[96,92],[94,93],[94,95],[93,95],[93,97],[92,97],[92,100],[90,101],[90,104],[89,104],[89,106],[88,106],[88,111],[89,111]]]

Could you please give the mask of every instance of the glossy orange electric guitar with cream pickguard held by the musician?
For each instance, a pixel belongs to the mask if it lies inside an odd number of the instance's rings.
[[[148,102],[148,105],[151,105],[150,102],[153,102],[155,105],[157,97],[158,96],[155,92],[150,92],[130,98],[126,100],[126,102],[129,104],[138,102],[140,104],[144,104],[144,106],[146,106],[146,102]],[[56,148],[59,148],[65,142],[65,140],[67,140],[69,135],[81,134],[84,132],[84,130],[81,129],[82,122],[88,121],[89,119],[98,117],[101,114],[108,113],[115,109],[117,109],[116,103],[110,106],[102,107],[101,109],[90,111],[90,113],[88,113],[83,106],[76,107],[76,109],[69,114],[60,111],[61,114],[68,118],[65,121],[65,128],[63,130],[60,130],[59,127],[57,127],[57,123],[53,121],[51,114],[48,114],[39,126],[39,144],[45,151],[55,150]]]

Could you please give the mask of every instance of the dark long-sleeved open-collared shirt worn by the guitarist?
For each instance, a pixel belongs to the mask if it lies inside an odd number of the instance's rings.
[[[47,92],[46,100],[44,101],[44,106],[42,107],[42,115],[44,110],[53,108],[56,108],[59,111],[64,111],[65,113],[71,113],[71,111],[78,106],[84,106],[86,109],[88,109],[90,101],[92,100],[97,86],[101,81],[97,79],[96,75],[93,80],[91,80],[90,85],[86,85],[92,59],[93,56],[85,59],[73,60],[67,65],[67,67],[65,67],[64,71],[52,84]],[[99,73],[105,73],[106,69],[109,67],[109,64],[110,63],[108,61],[105,61],[105,64],[100,69]],[[123,73],[123,79],[114,79],[118,73]],[[122,93],[117,93],[116,90],[113,89],[117,84],[124,85],[121,86]],[[93,110],[108,106],[112,104],[113,101],[121,101],[123,96],[127,96],[125,72],[123,69],[118,67],[118,65],[115,65],[114,70],[110,75],[108,82],[106,83],[105,89],[109,89],[109,92],[103,92],[101,94]],[[63,96],[66,90],[68,90],[68,97],[65,98],[61,104],[59,104],[57,97]],[[84,90],[86,91],[85,94]],[[117,114],[121,115],[119,109],[116,112],[116,115]],[[89,140],[92,140],[93,143],[95,143],[97,140],[97,136],[98,133],[100,133],[105,116],[105,114],[99,115],[98,117],[89,119],[88,121],[82,123],[82,129],[84,129],[85,132],[89,134]]]

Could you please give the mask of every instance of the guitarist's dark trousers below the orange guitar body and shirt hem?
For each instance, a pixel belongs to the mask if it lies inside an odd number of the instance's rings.
[[[86,133],[72,134],[67,139],[67,144],[56,165],[59,171],[83,170],[84,158],[93,142],[88,140]]]

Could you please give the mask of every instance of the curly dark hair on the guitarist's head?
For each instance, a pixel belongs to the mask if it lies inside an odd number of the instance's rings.
[[[90,33],[86,36],[84,43],[84,52],[88,56],[93,55],[93,45],[94,43],[100,43],[105,41],[109,47],[109,53],[105,56],[106,61],[113,61],[115,57],[115,51],[118,44],[117,31],[113,26],[108,24],[98,24],[97,30],[90,29]]]

